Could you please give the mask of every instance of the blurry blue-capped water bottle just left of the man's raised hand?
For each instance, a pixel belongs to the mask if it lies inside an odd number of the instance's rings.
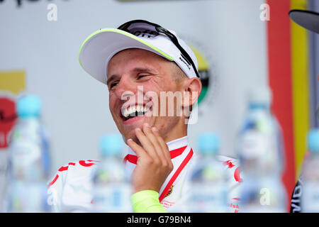
[[[100,140],[101,162],[94,172],[94,212],[133,212],[130,204],[130,184],[125,179],[123,138],[108,134]]]

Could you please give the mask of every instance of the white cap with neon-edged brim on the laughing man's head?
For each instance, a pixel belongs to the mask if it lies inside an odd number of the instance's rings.
[[[181,48],[189,54],[198,73],[198,63],[194,52],[181,40],[174,31]],[[108,62],[121,50],[139,48],[155,52],[167,60],[174,61],[187,77],[196,77],[191,63],[181,54],[179,48],[162,33],[145,33],[141,31],[133,35],[116,28],[104,28],[89,35],[79,50],[79,63],[92,77],[106,84]]]

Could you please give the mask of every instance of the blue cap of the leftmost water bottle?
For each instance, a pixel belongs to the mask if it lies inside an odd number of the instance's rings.
[[[26,94],[17,101],[17,114],[21,118],[40,116],[42,111],[42,101],[39,96]]]

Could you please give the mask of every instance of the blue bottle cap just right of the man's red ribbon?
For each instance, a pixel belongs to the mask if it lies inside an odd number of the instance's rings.
[[[202,154],[216,154],[219,146],[219,136],[214,133],[201,133],[198,136],[198,149]]]

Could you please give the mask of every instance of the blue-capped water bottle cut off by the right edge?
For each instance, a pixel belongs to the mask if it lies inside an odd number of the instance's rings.
[[[308,133],[308,154],[303,162],[301,211],[319,212],[319,128]]]

